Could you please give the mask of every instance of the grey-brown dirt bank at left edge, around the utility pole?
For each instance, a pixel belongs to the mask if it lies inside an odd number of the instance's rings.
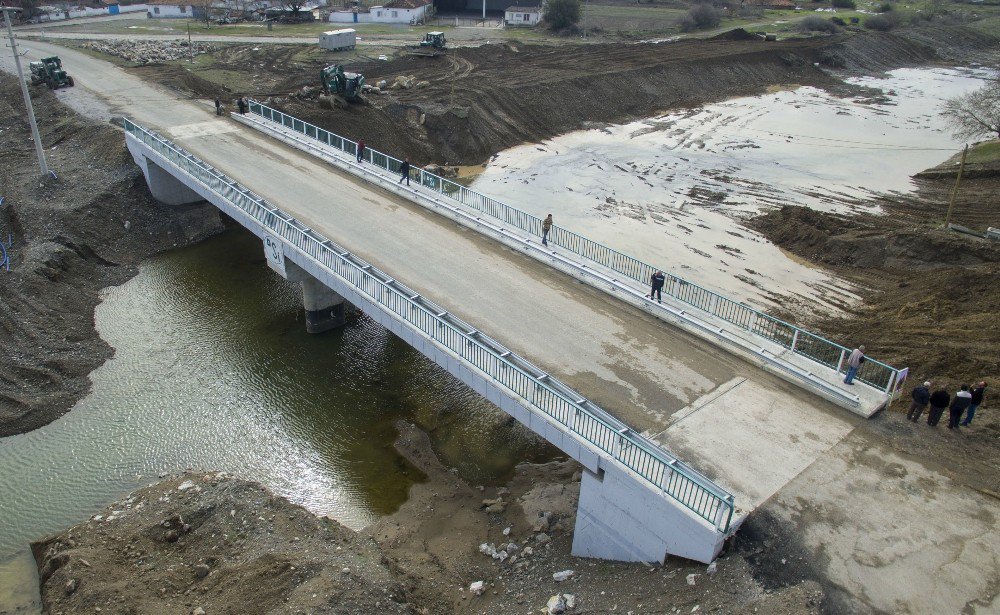
[[[221,229],[214,207],[155,202],[122,133],[81,119],[48,91],[35,110],[49,166],[40,181],[13,77],[0,73],[0,234],[12,235],[0,270],[0,437],[66,412],[112,349],[94,330],[98,291],[121,284],[161,250]]]

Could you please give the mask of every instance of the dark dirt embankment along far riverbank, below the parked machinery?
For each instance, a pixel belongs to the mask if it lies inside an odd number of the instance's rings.
[[[997,41],[964,28],[903,34],[848,33],[767,43],[683,40],[661,44],[459,48],[435,58],[349,64],[366,83],[412,76],[425,85],[368,94],[365,104],[324,108],[289,96],[316,88],[321,61],[292,62],[280,46],[233,46],[204,72],[183,66],[132,69],[202,98],[245,93],[376,149],[417,163],[474,165],[503,149],[605,122],[752,95],[769,86],[843,90],[827,69],[879,72],[936,60],[962,61]],[[946,53],[939,54],[941,45]],[[818,66],[817,66],[818,64]],[[231,75],[225,83],[220,75]],[[225,77],[223,77],[225,78]],[[227,78],[228,79],[228,78]]]

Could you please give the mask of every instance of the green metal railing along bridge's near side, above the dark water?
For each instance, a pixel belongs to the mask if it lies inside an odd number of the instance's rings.
[[[271,206],[194,155],[128,119],[124,120],[124,126],[128,134],[159,153],[182,173],[284,238],[380,309],[419,329],[496,384],[714,525],[718,531],[729,531],[734,498],[710,479],[495,340]]]

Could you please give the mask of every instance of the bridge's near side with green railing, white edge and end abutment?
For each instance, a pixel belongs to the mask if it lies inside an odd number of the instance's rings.
[[[258,236],[280,240],[289,260],[580,461],[588,478],[574,552],[710,561],[742,520],[734,522],[726,490],[527,359],[171,141],[127,119],[124,126],[137,159],[148,158]],[[632,505],[602,490],[629,493]]]

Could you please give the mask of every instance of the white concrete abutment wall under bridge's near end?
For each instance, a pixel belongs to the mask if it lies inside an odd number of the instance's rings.
[[[573,555],[663,563],[668,555],[709,563],[725,535],[614,465],[584,468],[573,530]]]

